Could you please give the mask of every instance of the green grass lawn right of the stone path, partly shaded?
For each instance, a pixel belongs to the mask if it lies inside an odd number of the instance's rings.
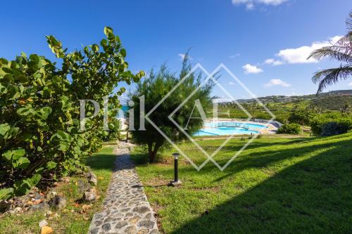
[[[198,142],[212,152],[222,141]],[[246,141],[233,139],[215,160],[225,164]],[[206,159],[190,143],[180,148],[198,165]],[[182,159],[179,188],[167,186],[174,151],[156,164],[142,164],[138,148],[132,155],[165,233],[352,233],[352,133],[259,138],[224,171]]]

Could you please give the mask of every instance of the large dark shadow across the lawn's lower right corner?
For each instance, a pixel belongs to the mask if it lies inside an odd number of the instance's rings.
[[[279,171],[174,233],[351,233],[352,141],[322,147],[328,150]],[[317,149],[300,148],[299,153]],[[268,162],[250,158],[252,164],[246,160],[244,166],[237,163],[230,170],[263,167],[294,157],[294,152],[272,151],[264,157],[270,155]]]

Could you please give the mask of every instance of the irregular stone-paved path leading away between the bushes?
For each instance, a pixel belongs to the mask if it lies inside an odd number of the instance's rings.
[[[94,214],[89,234],[158,233],[153,210],[130,160],[131,146],[120,142],[114,151],[118,156],[103,211]]]

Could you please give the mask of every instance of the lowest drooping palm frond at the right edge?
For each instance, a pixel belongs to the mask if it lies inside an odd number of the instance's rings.
[[[352,64],[340,66],[337,68],[330,68],[326,70],[320,70],[315,72],[312,80],[316,84],[319,82],[319,88],[317,91],[321,93],[328,85],[336,84],[342,79],[348,79],[352,75]]]

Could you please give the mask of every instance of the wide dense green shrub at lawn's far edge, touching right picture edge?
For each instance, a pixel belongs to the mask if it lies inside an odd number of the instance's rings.
[[[348,130],[352,129],[352,117],[339,112],[318,115],[311,120],[310,129],[315,136],[344,134],[348,132]]]

